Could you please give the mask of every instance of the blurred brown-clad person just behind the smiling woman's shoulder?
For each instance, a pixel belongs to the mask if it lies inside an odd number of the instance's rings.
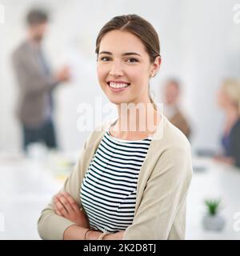
[[[190,138],[190,125],[179,106],[180,93],[179,82],[169,79],[164,86],[164,113],[170,122],[186,135],[186,138]]]

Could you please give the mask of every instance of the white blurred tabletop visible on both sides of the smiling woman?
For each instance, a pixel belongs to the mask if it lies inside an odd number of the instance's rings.
[[[234,231],[234,213],[240,211],[240,170],[196,158],[194,166],[206,170],[194,172],[190,186],[186,218],[186,239],[240,239]],[[1,157],[0,154],[0,213],[5,215],[5,231],[0,239],[39,239],[37,221],[50,198],[63,184],[55,170],[39,162],[24,158]],[[58,175],[59,176],[59,175]],[[202,228],[205,198],[221,197],[222,215],[226,226],[222,232],[209,232]]]

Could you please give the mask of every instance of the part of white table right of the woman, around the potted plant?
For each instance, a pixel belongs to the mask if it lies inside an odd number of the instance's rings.
[[[240,170],[208,158],[194,158],[193,165],[206,170],[194,171],[187,199],[186,239],[240,239],[240,231],[234,231],[234,214],[240,212]],[[222,199],[220,214],[226,226],[221,232],[203,229],[206,198]]]

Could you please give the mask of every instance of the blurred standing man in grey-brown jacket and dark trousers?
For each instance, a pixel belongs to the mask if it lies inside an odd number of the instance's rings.
[[[23,148],[32,142],[44,142],[50,149],[57,148],[52,118],[52,91],[60,82],[67,82],[67,66],[52,74],[42,52],[48,14],[34,9],[26,15],[28,36],[13,53],[13,66],[19,85],[18,118],[22,124]]]

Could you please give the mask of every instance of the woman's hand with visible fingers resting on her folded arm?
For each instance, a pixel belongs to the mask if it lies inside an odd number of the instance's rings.
[[[69,219],[78,226],[90,228],[87,215],[79,209],[78,203],[66,192],[54,196],[54,212]]]

